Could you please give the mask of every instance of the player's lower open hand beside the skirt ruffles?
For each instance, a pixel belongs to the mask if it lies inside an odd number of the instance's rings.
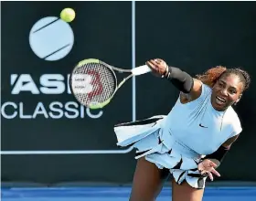
[[[199,170],[200,174],[202,174],[202,175],[208,174],[208,177],[211,181],[213,181],[212,174],[220,176],[219,172],[215,169],[216,167],[217,167],[217,164],[213,163],[209,159],[205,159],[200,164],[198,164],[198,170]]]

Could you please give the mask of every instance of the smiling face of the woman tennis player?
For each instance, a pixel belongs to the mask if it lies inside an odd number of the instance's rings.
[[[212,89],[211,103],[217,111],[225,111],[240,100],[243,84],[237,75],[223,75]]]

